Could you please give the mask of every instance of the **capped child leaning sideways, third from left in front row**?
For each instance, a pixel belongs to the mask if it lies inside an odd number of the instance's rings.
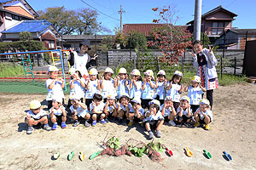
[[[72,119],[75,121],[75,123],[73,124],[73,127],[79,126],[80,124],[79,117],[85,119],[85,122],[84,122],[85,127],[90,127],[90,124],[88,122],[88,120],[90,119],[90,114],[87,110],[87,106],[84,105],[81,102],[81,100],[76,96],[72,96],[71,103],[72,105],[70,106],[69,109],[72,112]]]

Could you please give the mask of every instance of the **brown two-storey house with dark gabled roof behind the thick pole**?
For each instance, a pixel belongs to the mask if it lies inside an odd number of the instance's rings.
[[[236,20],[236,16],[237,14],[230,12],[220,5],[201,15],[201,31],[207,34],[210,41],[214,41],[214,38],[219,37],[223,31],[234,29],[232,21]],[[189,26],[189,30],[193,33],[194,20],[189,21],[186,25]]]

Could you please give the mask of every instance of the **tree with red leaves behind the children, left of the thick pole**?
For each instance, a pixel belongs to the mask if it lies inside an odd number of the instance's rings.
[[[174,26],[178,17],[175,17],[177,11],[172,7],[152,8],[153,11],[159,12],[160,19],[154,19],[154,23],[162,23],[163,26],[154,29],[152,36],[154,41],[148,42],[148,47],[159,48],[163,57],[160,61],[167,62],[169,65],[177,63],[178,59],[183,56],[185,48],[191,44],[191,33],[187,31],[186,26]]]

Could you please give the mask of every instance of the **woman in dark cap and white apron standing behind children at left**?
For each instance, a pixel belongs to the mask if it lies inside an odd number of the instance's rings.
[[[88,54],[90,49],[90,41],[84,39],[83,42],[79,43],[79,52],[72,50],[70,59],[68,59],[69,64],[73,66],[76,71],[80,71],[85,80],[89,77],[86,65],[90,62],[90,59],[96,59],[97,57],[97,55],[94,54],[94,57],[90,58]]]

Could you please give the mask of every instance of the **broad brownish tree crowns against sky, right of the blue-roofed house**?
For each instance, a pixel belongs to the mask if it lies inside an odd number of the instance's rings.
[[[44,11],[38,11],[38,14],[40,20],[48,20],[63,35],[110,32],[107,28],[101,26],[101,22],[97,22],[98,14],[90,8],[67,10],[62,6],[46,8]]]

